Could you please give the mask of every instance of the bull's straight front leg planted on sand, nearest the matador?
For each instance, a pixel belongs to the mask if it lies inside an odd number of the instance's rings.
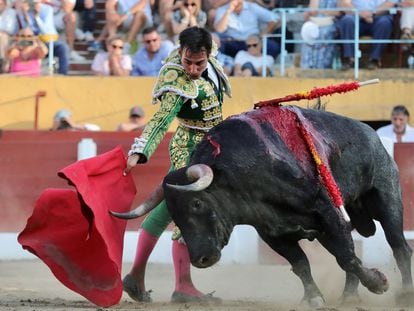
[[[302,301],[310,307],[321,307],[325,304],[322,293],[313,280],[308,258],[297,241],[263,237],[263,240],[278,254],[286,258],[292,265],[292,271],[300,278],[304,287]]]

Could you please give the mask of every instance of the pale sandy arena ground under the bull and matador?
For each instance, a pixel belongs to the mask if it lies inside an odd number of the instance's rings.
[[[129,264],[123,271],[128,271]],[[400,276],[394,263],[382,267],[390,290],[375,295],[360,288],[362,301],[352,306],[341,306],[344,273],[333,260],[313,264],[313,275],[326,299],[326,307],[319,311],[414,311],[414,306],[397,307],[394,303]],[[123,273],[124,274],[124,273]],[[219,306],[199,304],[171,304],[173,269],[171,265],[149,264],[147,288],[152,289],[154,302],[133,302],[126,294],[111,308],[100,308],[63,286],[40,260],[0,261],[0,310],[229,310],[229,311],[304,311],[300,305],[303,289],[299,279],[288,265],[216,265],[209,269],[193,268],[193,279],[205,291],[215,291],[223,298]]]

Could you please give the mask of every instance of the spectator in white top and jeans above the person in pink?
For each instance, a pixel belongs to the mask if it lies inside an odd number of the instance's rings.
[[[18,23],[21,28],[30,27],[44,41],[53,40],[57,31],[53,23],[53,8],[41,0],[17,0]],[[66,75],[69,70],[69,47],[60,40],[53,42],[53,55],[59,59],[58,72]]]

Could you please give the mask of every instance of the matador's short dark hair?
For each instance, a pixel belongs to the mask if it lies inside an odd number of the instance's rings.
[[[201,27],[194,26],[184,29],[179,37],[180,47],[189,49],[191,53],[199,53],[205,51],[207,55],[211,54],[213,40],[211,33]]]

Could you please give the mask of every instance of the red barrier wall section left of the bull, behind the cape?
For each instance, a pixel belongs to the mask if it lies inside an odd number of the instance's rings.
[[[125,154],[139,133],[3,131],[0,136],[0,232],[20,232],[31,215],[36,199],[46,188],[68,188],[57,172],[77,160],[77,145],[92,138],[97,153],[120,145]],[[162,141],[149,163],[133,171],[141,202],[162,181],[169,168],[168,142]],[[142,219],[128,222],[136,230]]]

